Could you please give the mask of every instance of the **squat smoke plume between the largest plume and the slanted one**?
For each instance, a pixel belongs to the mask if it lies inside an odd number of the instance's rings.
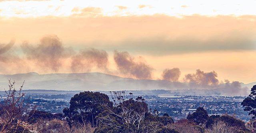
[[[92,67],[107,70],[108,53],[104,50],[89,49],[82,50],[72,57],[71,70],[73,72],[88,72]]]

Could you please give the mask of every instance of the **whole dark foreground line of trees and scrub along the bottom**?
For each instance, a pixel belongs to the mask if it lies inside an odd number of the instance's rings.
[[[149,109],[141,96],[119,91],[110,92],[110,98],[100,92],[80,92],[63,113],[26,110],[22,86],[16,91],[14,84],[9,80],[7,98],[0,106],[3,133],[253,133],[244,121],[230,115],[209,116],[201,107],[174,122],[167,113],[160,116],[158,110]],[[242,104],[246,101],[255,102],[247,99]]]

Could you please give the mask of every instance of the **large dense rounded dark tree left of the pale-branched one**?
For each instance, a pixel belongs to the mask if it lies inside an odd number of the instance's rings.
[[[76,123],[91,123],[96,125],[95,117],[102,113],[106,108],[112,108],[108,95],[100,92],[80,92],[70,100],[70,107],[64,108],[63,113],[69,125]]]

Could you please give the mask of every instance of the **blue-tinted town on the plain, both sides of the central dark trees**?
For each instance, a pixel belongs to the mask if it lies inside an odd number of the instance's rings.
[[[40,111],[50,113],[62,113],[65,107],[69,107],[70,98],[74,94],[29,94],[25,96],[24,104],[30,110],[36,108]],[[135,96],[134,96],[135,97]],[[0,96],[3,100],[4,95]],[[241,105],[245,97],[234,96],[143,96],[148,108],[157,109],[160,115],[168,113],[174,120],[186,118],[188,114],[196,111],[196,108],[203,107],[209,115],[228,114],[248,121],[250,116],[243,110]]]

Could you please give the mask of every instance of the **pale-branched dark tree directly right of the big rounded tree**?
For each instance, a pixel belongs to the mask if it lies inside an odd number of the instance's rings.
[[[102,133],[107,129],[116,129],[114,132],[108,131],[108,133],[116,133],[115,131],[119,130],[122,133],[124,131],[136,133],[149,114],[148,106],[141,96],[136,100],[132,98],[125,100],[114,108],[108,108],[97,117],[100,127],[104,128],[96,129],[96,133]]]

